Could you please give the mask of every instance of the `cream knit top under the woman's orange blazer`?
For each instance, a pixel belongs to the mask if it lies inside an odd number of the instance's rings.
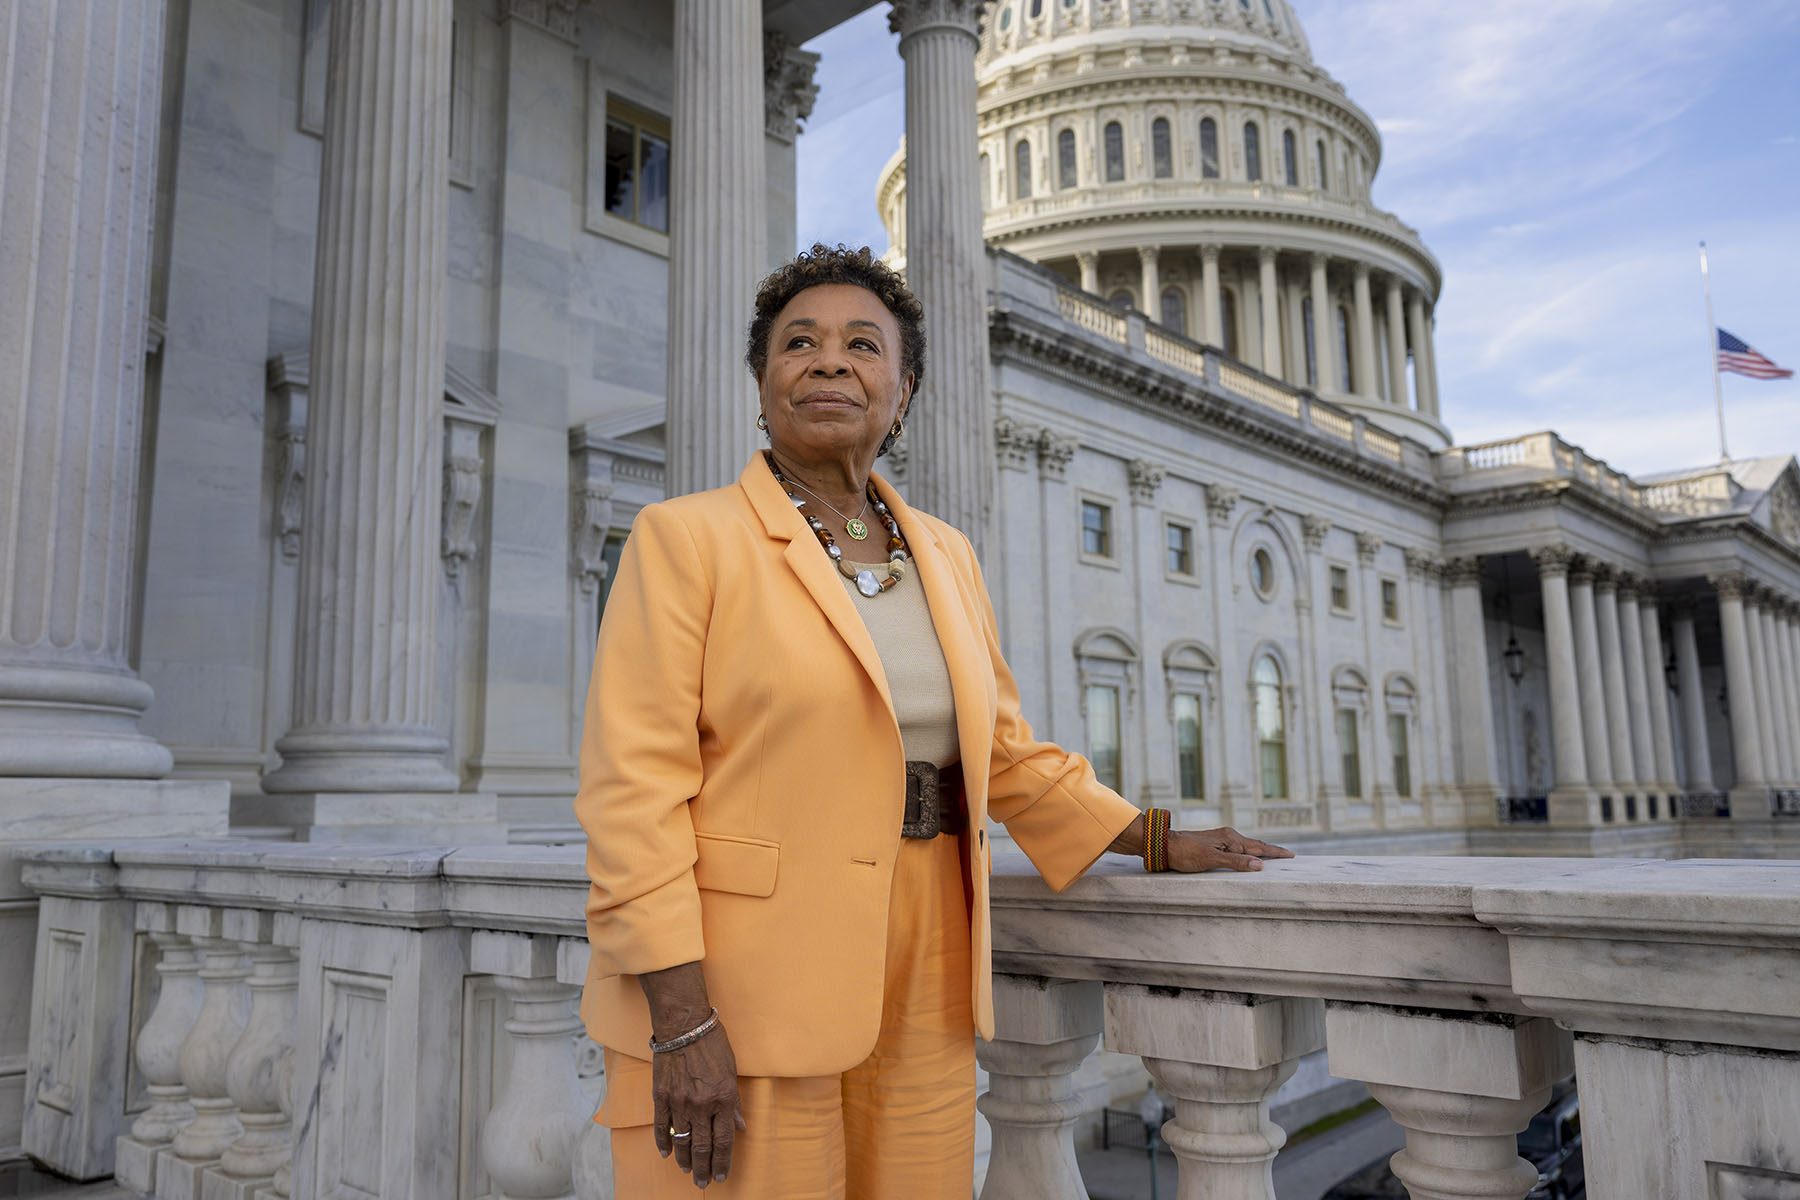
[[[846,556],[848,561],[848,556]],[[887,563],[850,563],[869,567],[877,576]],[[909,763],[925,761],[949,766],[961,757],[956,743],[956,700],[950,696],[950,667],[943,660],[938,628],[925,604],[925,585],[918,581],[918,563],[907,561],[900,583],[877,596],[864,596],[853,579],[844,590],[862,613],[875,653],[887,675],[887,694],[900,720],[900,745]]]

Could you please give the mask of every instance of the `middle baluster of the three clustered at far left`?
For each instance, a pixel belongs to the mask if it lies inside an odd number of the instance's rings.
[[[202,1173],[243,1137],[238,1103],[230,1097],[225,1065],[250,1016],[250,975],[243,948],[225,936],[223,912],[182,905],[175,928],[193,937],[202,955],[205,988],[193,1029],[182,1040],[182,1083],[193,1096],[194,1119],[157,1155],[157,1200],[202,1200]]]

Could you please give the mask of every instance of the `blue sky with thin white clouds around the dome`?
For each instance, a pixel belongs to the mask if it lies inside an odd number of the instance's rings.
[[[1800,369],[1800,0],[1294,0],[1382,133],[1375,201],[1444,264],[1458,443],[1555,428],[1649,473],[1717,457],[1721,326]],[[887,5],[810,43],[799,237],[886,248]],[[1733,457],[1800,452],[1800,380],[1724,376]]]

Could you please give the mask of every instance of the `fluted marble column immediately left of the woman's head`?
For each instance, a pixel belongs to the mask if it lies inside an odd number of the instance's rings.
[[[756,383],[743,371],[743,322],[720,320],[720,304],[742,308],[756,293],[769,237],[761,4],[675,0],[673,7],[670,191],[680,203],[670,207],[671,497],[729,484],[760,444]],[[976,173],[974,149],[968,173]],[[970,201],[979,203],[974,187]],[[929,302],[925,311],[932,311]]]

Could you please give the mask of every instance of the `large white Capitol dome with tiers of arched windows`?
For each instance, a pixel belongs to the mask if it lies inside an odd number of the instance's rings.
[[[976,58],[988,245],[1444,448],[1436,259],[1285,0],[1003,0]],[[905,261],[905,148],[877,185]],[[1323,320],[1321,320],[1323,315]]]

